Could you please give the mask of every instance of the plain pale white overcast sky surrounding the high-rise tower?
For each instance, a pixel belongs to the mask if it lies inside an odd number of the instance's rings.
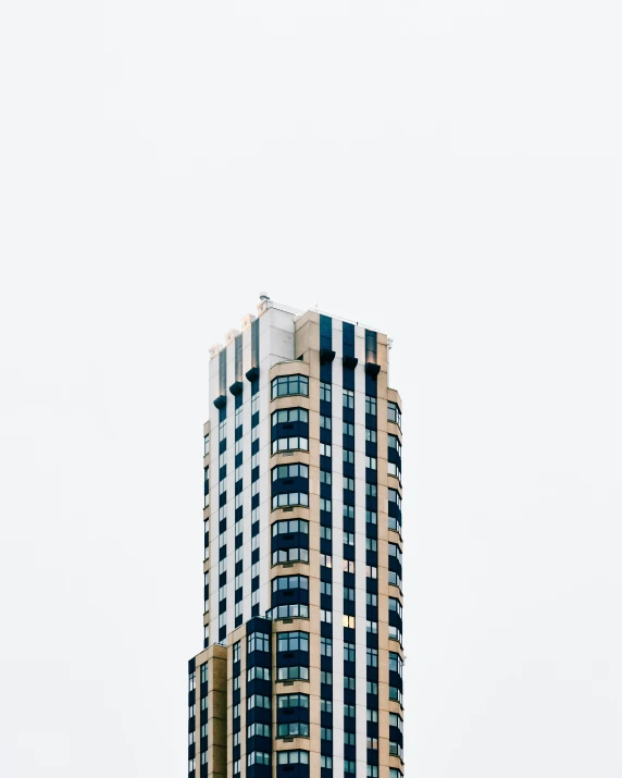
[[[208,347],[394,337],[407,776],[622,776],[622,9],[0,11],[0,774],[172,778]]]

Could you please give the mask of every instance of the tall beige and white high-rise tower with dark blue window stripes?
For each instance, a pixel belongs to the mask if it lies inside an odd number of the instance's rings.
[[[210,351],[191,778],[402,778],[389,346],[263,296]]]

